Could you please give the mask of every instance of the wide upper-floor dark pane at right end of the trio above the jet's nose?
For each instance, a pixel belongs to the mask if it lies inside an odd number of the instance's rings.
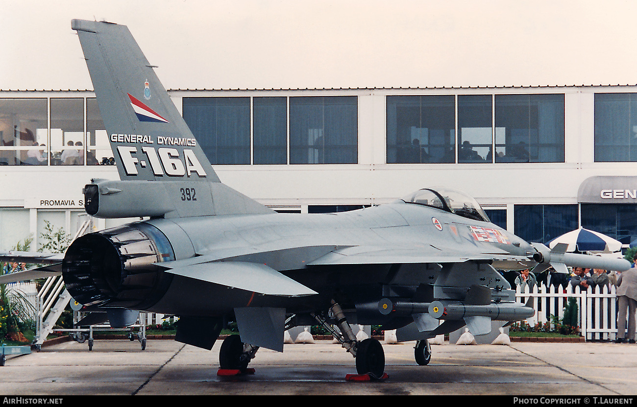
[[[496,95],[496,162],[564,162],[564,95]]]

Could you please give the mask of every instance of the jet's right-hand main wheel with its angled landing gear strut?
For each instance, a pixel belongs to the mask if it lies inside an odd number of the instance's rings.
[[[380,341],[373,338],[357,341],[350,325],[347,324],[343,310],[341,310],[340,305],[334,300],[332,300],[330,313],[333,316],[333,320],[336,321],[338,330],[334,329],[333,325],[330,324],[326,318],[320,315],[314,315],[314,318],[333,334],[334,338],[341,343],[341,346],[343,346],[347,352],[352,353],[352,356],[354,356],[356,360],[356,371],[359,376],[352,380],[378,380],[387,378],[385,374],[385,352],[383,351],[383,345],[381,345]],[[368,376],[368,378],[363,379],[361,376]]]

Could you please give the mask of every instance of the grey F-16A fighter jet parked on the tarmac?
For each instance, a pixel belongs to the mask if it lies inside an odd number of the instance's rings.
[[[382,345],[357,341],[349,324],[397,329],[399,340],[418,341],[416,360],[427,364],[427,338],[464,325],[487,334],[492,320],[534,315],[498,269],[630,266],[531,245],[445,187],[346,213],[275,213],[220,182],[127,27],[71,25],[120,175],[86,185],[85,210],[150,219],[73,241],[61,263],[66,287],[111,316],[177,315],[176,340],[208,350],[236,321],[240,335],[220,348],[222,369],[244,371],[260,346],[282,352],[286,329],[321,324],[354,355],[359,374],[380,378]],[[0,259],[20,254],[28,253]],[[34,278],[27,273],[0,282]]]

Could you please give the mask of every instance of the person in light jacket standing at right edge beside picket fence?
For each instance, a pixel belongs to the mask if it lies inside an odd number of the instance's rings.
[[[635,256],[637,259],[637,255]],[[633,261],[635,260],[633,259]],[[635,310],[637,310],[637,268],[622,271],[617,278],[617,339],[626,342],[626,317],[628,317],[628,343],[635,343]],[[628,315],[626,315],[628,311]]]

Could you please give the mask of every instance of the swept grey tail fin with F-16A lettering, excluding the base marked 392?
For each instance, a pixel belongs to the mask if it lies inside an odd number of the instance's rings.
[[[219,182],[125,25],[73,20],[122,180]]]

